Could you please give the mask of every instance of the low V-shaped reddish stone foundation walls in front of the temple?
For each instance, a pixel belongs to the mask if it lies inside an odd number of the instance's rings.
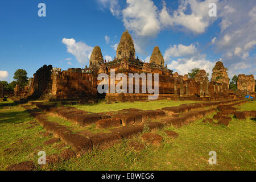
[[[224,104],[225,106],[240,105],[243,102],[246,101],[201,102],[164,107],[159,110],[125,109],[106,113],[90,113],[74,107],[58,107],[39,102],[30,102],[30,104],[38,106],[45,113],[32,109],[32,106],[24,105],[23,107],[36,118],[46,131],[60,138],[65,143],[70,144],[77,154],[84,154],[85,152],[92,151],[94,147],[102,149],[111,147],[124,138],[130,138],[135,134],[142,133],[145,127],[147,127],[147,130],[161,129],[166,125],[180,127],[217,111],[217,106]],[[96,123],[97,127],[115,128],[109,129],[109,133],[89,135],[82,134],[83,131],[81,133],[72,133],[67,126],[50,121],[48,119],[49,114],[67,119],[81,126]],[[158,119],[158,121],[154,121],[155,119]],[[113,123],[114,126],[112,125]],[[86,133],[86,130],[84,132]]]

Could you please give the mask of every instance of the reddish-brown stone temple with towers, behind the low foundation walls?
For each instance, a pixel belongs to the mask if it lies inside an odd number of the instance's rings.
[[[209,81],[207,73],[201,70],[194,79],[188,75],[179,75],[164,67],[164,59],[159,47],[155,47],[150,57],[150,63],[144,63],[136,59],[133,38],[128,31],[123,32],[117,55],[113,61],[104,63],[101,48],[93,49],[87,66],[81,68],[70,68],[61,71],[52,65],[44,65],[30,78],[30,84],[20,90],[18,86],[14,90],[15,96],[42,100],[88,100],[91,98],[105,97],[108,102],[126,102],[135,100],[147,100],[149,93],[107,93],[98,94],[97,86],[100,81],[97,76],[106,73],[110,76],[110,70],[115,74],[125,73],[158,73],[159,74],[159,99],[182,99],[182,100],[204,100],[213,101],[228,98],[241,97],[243,94],[254,94],[255,81],[253,75],[238,77],[238,90],[234,93],[229,90],[229,78],[226,68],[221,61],[213,68],[212,79]],[[118,84],[118,81],[115,81]],[[140,83],[140,90],[142,89]]]

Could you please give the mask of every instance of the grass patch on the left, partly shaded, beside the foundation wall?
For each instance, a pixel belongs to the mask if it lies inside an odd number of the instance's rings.
[[[52,136],[43,137],[42,126],[20,106],[0,109],[0,170],[10,164],[38,159],[39,151],[60,152],[56,144],[44,145]],[[67,146],[68,147],[68,146]]]

